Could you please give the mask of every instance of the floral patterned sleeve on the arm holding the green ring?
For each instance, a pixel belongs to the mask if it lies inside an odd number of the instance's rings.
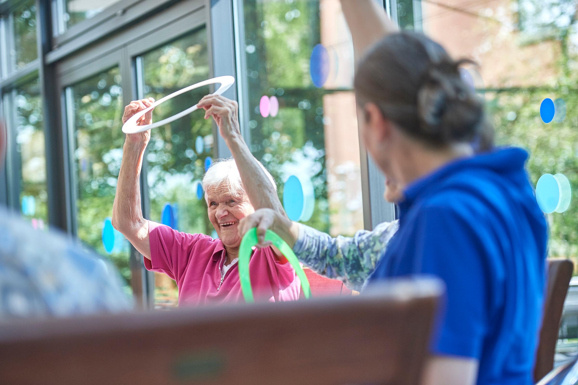
[[[332,238],[299,224],[299,238],[293,251],[303,264],[317,274],[339,279],[349,289],[360,290],[397,229],[398,221],[395,220],[380,223],[372,231],[357,231],[353,238]]]

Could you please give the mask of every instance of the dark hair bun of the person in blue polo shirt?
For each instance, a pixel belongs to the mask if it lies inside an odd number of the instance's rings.
[[[430,66],[417,92],[420,129],[442,141],[470,141],[483,118],[483,105],[461,79],[459,67],[468,60]]]

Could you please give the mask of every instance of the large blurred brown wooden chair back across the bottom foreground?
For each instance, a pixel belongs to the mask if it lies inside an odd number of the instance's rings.
[[[418,384],[443,285],[0,323],[2,384]],[[347,354],[336,354],[347,352]]]

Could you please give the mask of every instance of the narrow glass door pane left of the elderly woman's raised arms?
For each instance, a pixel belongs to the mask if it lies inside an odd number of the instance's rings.
[[[110,224],[124,144],[118,68],[69,87],[66,99],[74,141],[77,235],[113,261],[130,291],[129,243]]]

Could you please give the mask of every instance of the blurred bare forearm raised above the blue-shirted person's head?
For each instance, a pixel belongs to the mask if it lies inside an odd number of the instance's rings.
[[[383,7],[375,0],[341,0],[341,7],[351,31],[357,57],[363,55],[383,36],[398,31]]]

